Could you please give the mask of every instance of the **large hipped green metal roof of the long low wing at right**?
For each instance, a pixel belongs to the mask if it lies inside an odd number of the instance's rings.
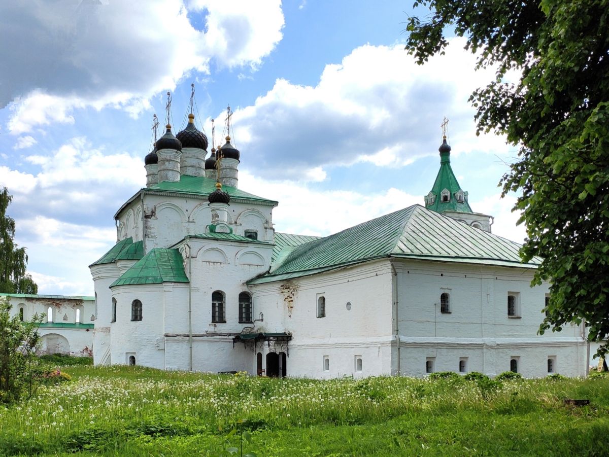
[[[536,268],[540,260],[523,264],[519,249],[518,243],[414,205],[297,246],[279,265],[273,265],[270,273],[249,284],[306,276],[382,257]]]

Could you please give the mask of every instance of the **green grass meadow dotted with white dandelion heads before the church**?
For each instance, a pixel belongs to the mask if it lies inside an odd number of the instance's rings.
[[[69,366],[0,406],[0,455],[607,455],[609,379],[268,379]],[[590,399],[569,408],[563,399]]]

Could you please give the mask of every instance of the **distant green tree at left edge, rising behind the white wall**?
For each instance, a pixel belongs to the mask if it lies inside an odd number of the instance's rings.
[[[6,214],[12,195],[4,187],[0,192],[0,292],[38,293],[38,285],[26,273],[26,248],[19,248],[15,238],[15,220]]]

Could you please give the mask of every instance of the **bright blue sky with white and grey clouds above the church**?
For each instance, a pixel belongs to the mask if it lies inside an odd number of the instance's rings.
[[[417,66],[410,3],[138,2],[0,5],[0,186],[40,293],[93,293],[88,265],[116,242],[116,209],[146,182],[152,116],[172,92],[174,133],[191,83],[220,142],[230,104],[239,187],[280,201],[278,231],[326,235],[423,204],[450,119],[452,167],[493,232],[524,228],[497,184],[515,149],[476,136],[473,89],[493,77],[454,39]],[[211,138],[210,138],[211,139]]]

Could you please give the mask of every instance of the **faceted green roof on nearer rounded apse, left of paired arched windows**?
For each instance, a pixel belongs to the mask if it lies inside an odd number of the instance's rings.
[[[154,248],[133,267],[122,274],[110,287],[128,284],[161,284],[189,282],[183,260],[177,249]]]

